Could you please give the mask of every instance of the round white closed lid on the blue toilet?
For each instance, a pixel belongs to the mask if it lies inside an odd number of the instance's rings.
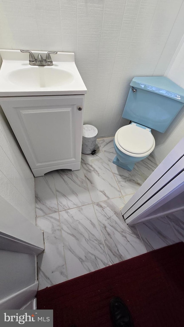
[[[118,130],[117,141],[123,149],[135,154],[145,153],[154,145],[154,137],[149,130],[132,124]]]

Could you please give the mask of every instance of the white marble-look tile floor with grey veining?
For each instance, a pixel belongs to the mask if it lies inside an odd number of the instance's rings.
[[[39,289],[182,239],[181,217],[176,225],[167,216],[129,227],[120,213],[157,167],[154,158],[129,172],[112,163],[112,137],[98,139],[96,150],[82,154],[80,170],[35,178],[36,220],[45,241],[38,256]]]

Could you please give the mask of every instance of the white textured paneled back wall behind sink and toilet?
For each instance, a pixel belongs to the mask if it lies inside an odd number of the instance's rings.
[[[164,75],[184,34],[183,0],[2,0],[5,49],[75,53],[86,124],[114,135],[131,79]],[[54,56],[53,56],[54,60]],[[120,122],[120,125],[119,125]]]

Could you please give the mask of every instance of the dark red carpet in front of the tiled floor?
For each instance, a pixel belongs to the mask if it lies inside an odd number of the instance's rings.
[[[184,243],[45,288],[37,309],[54,309],[54,327],[111,327],[113,296],[127,304],[135,327],[184,327]]]

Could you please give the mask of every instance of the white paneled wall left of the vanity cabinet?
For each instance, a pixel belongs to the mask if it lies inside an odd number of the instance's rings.
[[[0,196],[35,225],[34,177],[1,108]]]

